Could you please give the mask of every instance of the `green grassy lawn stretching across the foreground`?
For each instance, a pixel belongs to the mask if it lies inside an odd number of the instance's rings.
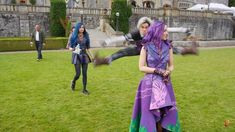
[[[105,49],[103,56],[117,49]],[[88,69],[89,96],[70,89],[68,51],[0,54],[0,131],[126,132],[143,73],[138,57]],[[185,132],[235,131],[235,48],[174,56],[172,81]],[[224,127],[224,120],[231,124]]]

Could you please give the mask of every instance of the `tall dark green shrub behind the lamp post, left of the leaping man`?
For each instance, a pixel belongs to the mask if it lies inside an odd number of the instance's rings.
[[[114,0],[112,2],[112,11],[111,11],[111,25],[116,29],[117,16],[116,13],[119,12],[118,17],[118,27],[119,30],[127,33],[129,31],[129,17],[131,16],[131,7],[127,5],[126,0]]]

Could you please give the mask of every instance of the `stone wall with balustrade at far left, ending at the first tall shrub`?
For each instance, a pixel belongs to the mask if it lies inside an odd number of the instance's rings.
[[[49,34],[50,0],[37,0],[31,6],[29,0],[0,0],[0,36],[30,36],[36,24]]]

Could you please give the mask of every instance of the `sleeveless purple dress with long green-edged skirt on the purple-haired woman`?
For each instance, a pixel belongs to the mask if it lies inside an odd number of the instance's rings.
[[[148,67],[166,69],[171,46],[167,42],[161,45],[161,50],[153,43],[145,46]],[[136,93],[129,131],[157,132],[157,122],[168,131],[180,131],[171,80],[165,83],[160,75],[145,74]]]

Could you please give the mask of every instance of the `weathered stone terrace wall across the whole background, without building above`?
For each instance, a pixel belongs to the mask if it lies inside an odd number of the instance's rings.
[[[130,30],[136,28],[140,17],[148,16],[152,19],[164,20],[169,27],[194,28],[195,36],[202,40],[222,40],[233,37],[234,20],[230,15],[171,8],[133,8],[132,12],[133,15],[129,19]],[[73,24],[83,19],[87,29],[99,27],[101,18],[108,18],[110,14],[110,10],[104,9],[67,9],[67,16],[71,17]],[[40,24],[42,30],[49,35],[49,7],[0,6],[1,37],[30,36],[35,24]],[[170,39],[173,40],[182,40],[184,37],[183,33],[170,34]]]

